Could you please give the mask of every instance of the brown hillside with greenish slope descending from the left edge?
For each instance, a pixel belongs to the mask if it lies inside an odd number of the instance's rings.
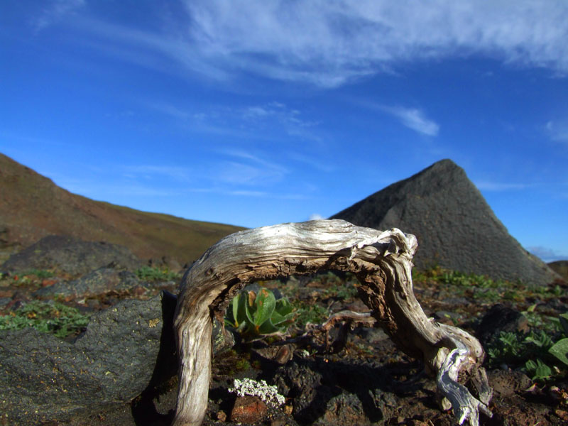
[[[23,248],[51,234],[69,235],[121,244],[142,259],[168,256],[183,264],[241,229],[89,200],[0,154],[0,247],[4,249]]]

